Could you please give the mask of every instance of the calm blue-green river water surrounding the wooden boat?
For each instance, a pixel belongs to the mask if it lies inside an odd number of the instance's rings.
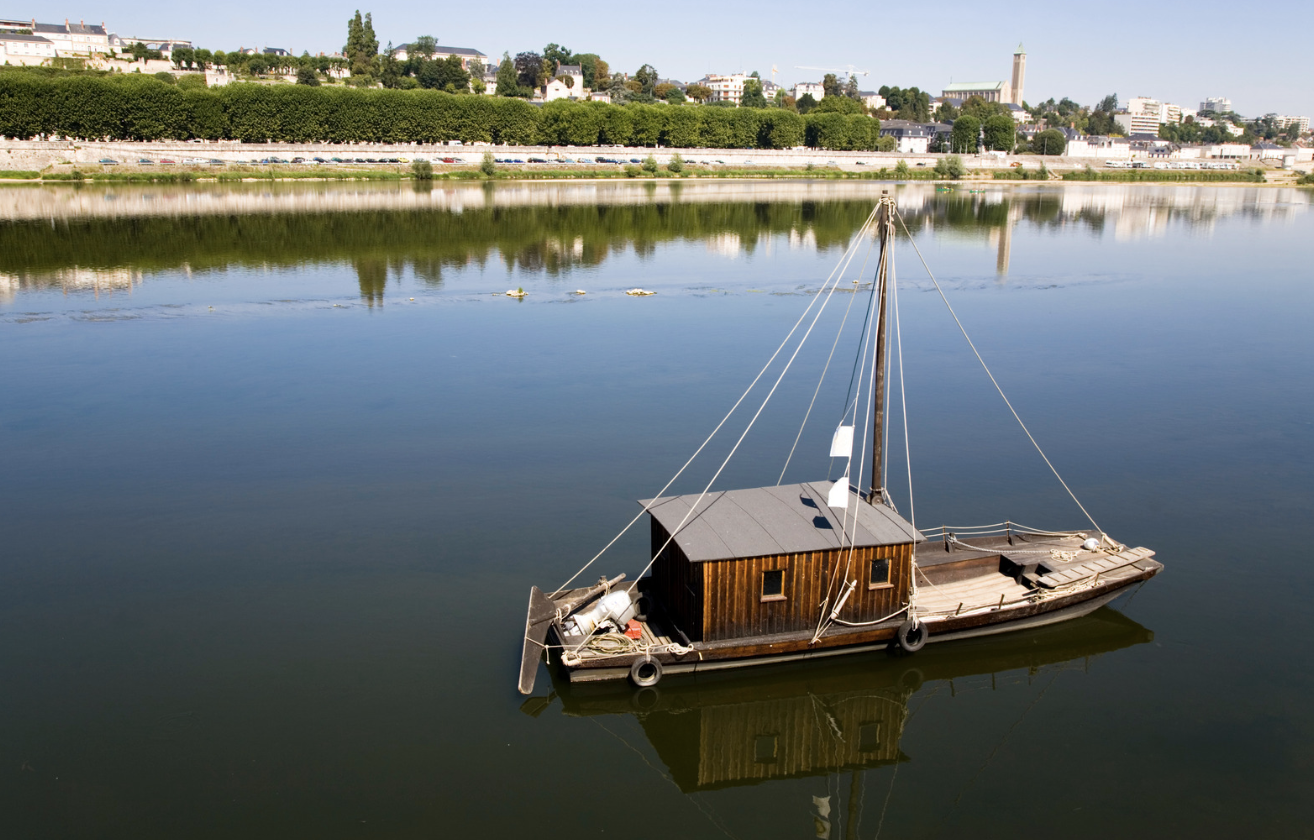
[[[665,484],[880,189],[1077,496],[1164,573],[915,657],[668,678],[653,707],[543,669],[524,702],[530,585]],[[0,835],[1311,836],[1310,200],[0,189]],[[918,526],[1083,527],[896,259]],[[719,486],[779,477],[830,313]],[[848,358],[787,480],[830,469]]]

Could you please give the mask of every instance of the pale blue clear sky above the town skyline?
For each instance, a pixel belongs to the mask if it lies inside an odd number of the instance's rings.
[[[439,43],[489,57],[541,51],[549,42],[597,53],[615,70],[653,64],[664,78],[692,82],[707,72],[778,68],[781,84],[819,80],[798,66],[866,70],[862,89],[883,84],[938,95],[950,82],[1007,82],[1013,50],[1026,49],[1025,99],[1068,96],[1095,104],[1152,96],[1198,108],[1226,96],[1247,117],[1276,112],[1314,117],[1307,37],[1314,3],[1276,0],[1238,12],[1235,4],[1100,4],[1007,7],[997,3],[859,4],[765,0],[738,7],[694,0],[649,5],[427,4],[406,0],[357,7],[336,0],[269,5],[64,0],[26,7],[5,0],[0,16],[60,22],[104,21],[141,38],[185,38],[200,47],[277,46],[332,53],[347,20],[372,12],[380,45],[431,34]]]

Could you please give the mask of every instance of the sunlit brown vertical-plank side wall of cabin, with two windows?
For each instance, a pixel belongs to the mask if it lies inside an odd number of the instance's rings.
[[[674,543],[671,544],[674,547]],[[851,564],[850,564],[851,552]],[[888,588],[867,589],[872,559],[890,560]],[[816,627],[821,599],[836,568],[848,567],[858,586],[840,618],[869,622],[884,618],[908,602],[912,543],[875,548],[815,551],[699,563],[702,572],[702,638],[706,642],[763,636]],[[784,572],[784,598],[762,601],[762,573]],[[838,590],[840,576],[836,576]],[[687,631],[686,631],[687,632]]]

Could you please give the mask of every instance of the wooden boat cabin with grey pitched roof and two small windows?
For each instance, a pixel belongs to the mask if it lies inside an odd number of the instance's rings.
[[[649,592],[694,642],[803,632],[848,567],[857,588],[838,618],[890,617],[908,603],[913,546],[925,538],[851,490],[848,511],[830,507],[829,490],[819,481],[644,501],[656,557]]]

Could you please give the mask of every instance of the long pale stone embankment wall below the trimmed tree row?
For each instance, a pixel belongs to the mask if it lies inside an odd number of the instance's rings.
[[[933,167],[945,155],[901,154],[895,151],[825,151],[825,150],[759,150],[759,149],[645,149],[620,146],[494,146],[474,143],[468,146],[430,146],[420,143],[374,145],[374,143],[238,143],[238,142],[106,142],[89,143],[80,141],[9,141],[0,139],[0,170],[45,170],[51,166],[95,166],[102,158],[118,160],[121,164],[134,164],[141,158],[159,160],[170,158],[183,162],[185,158],[217,158],[227,163],[248,163],[261,158],[463,158],[466,166],[480,162],[484,152],[491,151],[498,158],[528,159],[547,158],[646,158],[653,155],[658,163],[668,163],[677,154],[685,160],[706,160],[712,166],[766,166],[803,168],[807,164],[827,166],[834,163],[842,168],[895,168],[900,160],[909,167]],[[1104,160],[1092,158],[1038,158],[1034,155],[959,155],[970,170],[1004,170],[1021,163],[1035,168],[1043,162],[1054,171],[1080,170],[1087,164],[1099,167]]]

